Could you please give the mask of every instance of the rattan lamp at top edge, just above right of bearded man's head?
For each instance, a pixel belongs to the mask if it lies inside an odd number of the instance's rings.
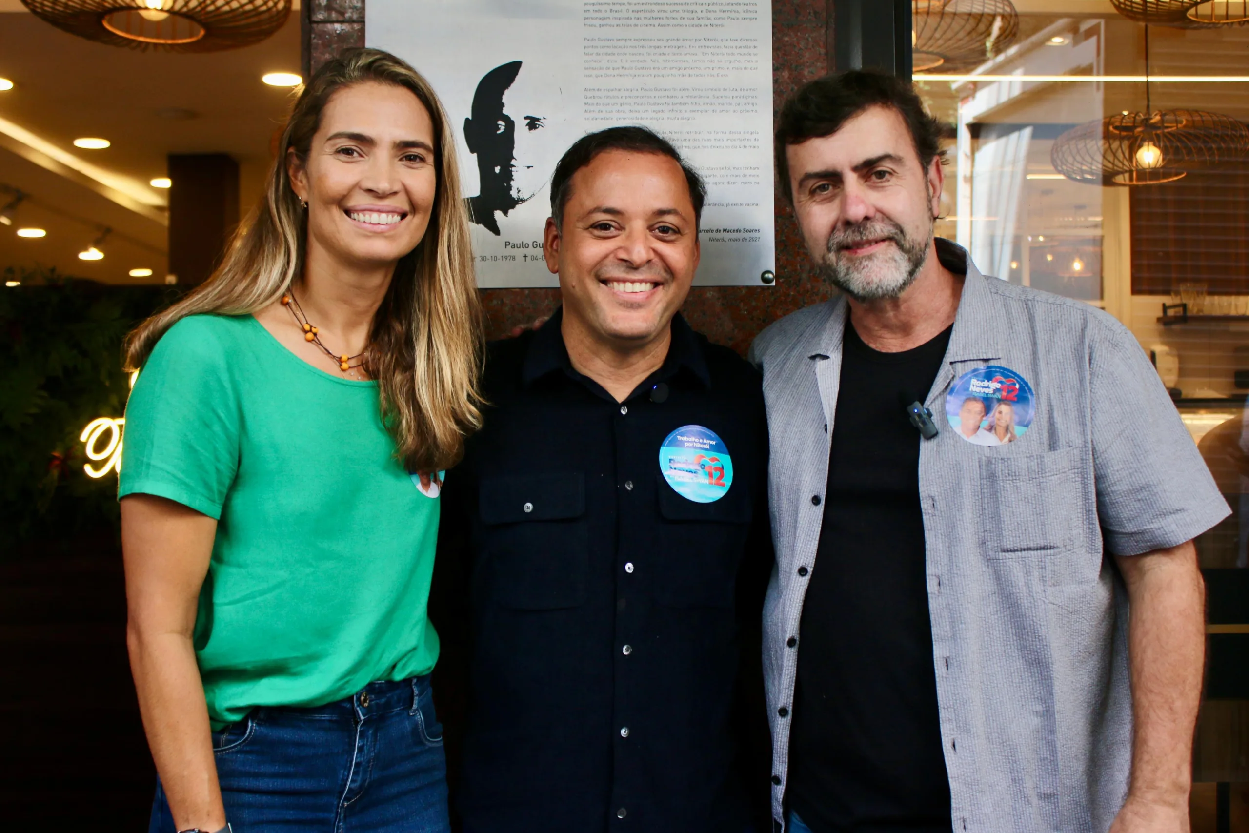
[[[912,0],[914,72],[967,70],[999,55],[1019,34],[1010,0]]]

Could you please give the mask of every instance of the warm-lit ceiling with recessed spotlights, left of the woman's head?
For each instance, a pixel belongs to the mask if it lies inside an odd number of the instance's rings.
[[[185,55],[76,37],[31,15],[17,0],[0,0],[0,77],[15,85],[0,92],[0,120],[107,174],[134,180],[151,205],[166,201],[166,192],[146,185],[165,175],[166,155],[220,152],[239,162],[246,211],[262,187],[270,144],[291,96],[287,89],[266,86],[260,76],[299,66],[297,12],[255,46]],[[100,136],[112,145],[80,150],[72,145],[79,136]],[[164,280],[166,226],[160,212],[124,207],[86,177],[54,174],[14,149],[26,150],[0,136],[0,184],[30,199],[17,209],[12,226],[0,226],[0,270],[37,264],[107,282]],[[0,194],[0,207],[5,202],[7,195]],[[19,239],[19,226],[46,229],[47,236]],[[79,260],[77,252],[102,226],[115,230],[101,246],[105,259]],[[154,276],[129,277],[135,267],[151,269]]]

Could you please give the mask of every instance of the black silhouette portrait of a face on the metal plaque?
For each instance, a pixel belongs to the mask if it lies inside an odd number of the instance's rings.
[[[465,142],[477,157],[481,192],[468,197],[472,221],[498,235],[495,212],[503,216],[532,197],[541,187],[535,181],[537,160],[525,159],[528,137],[546,126],[546,117],[525,112],[526,102],[515,100],[513,87],[521,61],[496,66],[482,76],[472,97],[472,115],[465,119]],[[532,104],[536,102],[531,102]],[[542,181],[550,171],[538,171]]]

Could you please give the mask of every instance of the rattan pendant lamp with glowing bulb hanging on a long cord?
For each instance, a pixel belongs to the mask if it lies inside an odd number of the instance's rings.
[[[1089,185],[1158,185],[1249,154],[1249,129],[1218,112],[1158,110],[1149,99],[1145,25],[1145,111],[1107,116],[1054,140],[1054,170]]]

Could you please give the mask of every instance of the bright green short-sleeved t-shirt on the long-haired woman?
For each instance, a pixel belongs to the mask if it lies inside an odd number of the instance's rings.
[[[195,621],[215,729],[433,668],[440,501],[393,452],[376,382],[312,367],[252,316],[191,316],[157,342],[126,405],[119,497],[217,520]]]

